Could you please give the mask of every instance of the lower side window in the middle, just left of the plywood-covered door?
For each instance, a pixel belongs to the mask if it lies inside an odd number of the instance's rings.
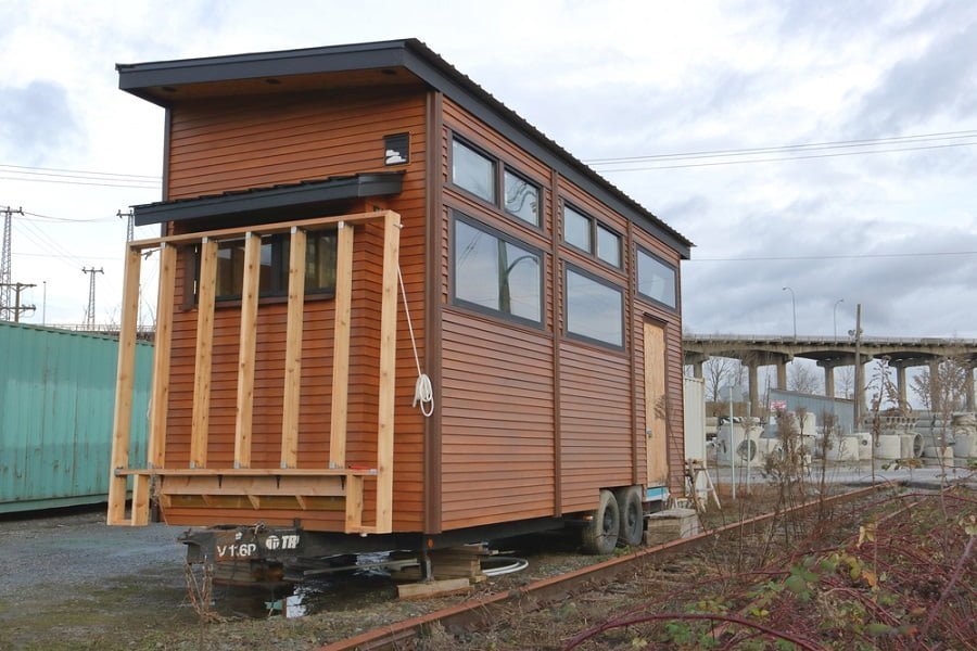
[[[624,294],[596,278],[567,268],[567,333],[624,346]]]

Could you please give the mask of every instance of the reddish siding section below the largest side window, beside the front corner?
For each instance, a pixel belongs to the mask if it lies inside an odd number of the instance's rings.
[[[444,528],[551,515],[551,340],[442,314]]]

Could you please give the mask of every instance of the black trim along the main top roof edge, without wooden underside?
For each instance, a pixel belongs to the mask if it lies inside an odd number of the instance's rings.
[[[137,97],[168,106],[151,92],[163,86],[206,84],[230,79],[281,77],[356,69],[404,67],[435,90],[473,113],[493,129],[569,181],[591,192],[644,230],[688,258],[693,243],[622,190],[546,137],[522,116],[495,99],[417,39],[328,46],[251,54],[116,64],[118,86]]]

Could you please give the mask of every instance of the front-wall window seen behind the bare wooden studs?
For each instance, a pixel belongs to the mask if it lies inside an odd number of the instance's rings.
[[[258,293],[261,296],[284,296],[289,291],[288,234],[262,238]],[[335,291],[334,230],[310,231],[305,248],[305,292],[322,294]],[[195,252],[194,289],[200,279],[200,250]],[[244,240],[225,240],[217,245],[217,301],[239,301],[244,286]],[[194,291],[194,294],[196,292]]]

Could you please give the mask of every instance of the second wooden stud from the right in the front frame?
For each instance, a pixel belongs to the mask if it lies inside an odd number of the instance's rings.
[[[329,468],[346,467],[352,308],[353,225],[340,221],[335,255],[335,331],[332,346],[332,426],[329,430]]]

